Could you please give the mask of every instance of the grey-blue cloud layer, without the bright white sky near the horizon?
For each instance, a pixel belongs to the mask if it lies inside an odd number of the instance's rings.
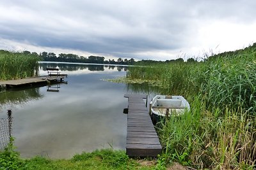
[[[198,30],[216,20],[255,23],[255,5],[253,0],[4,0],[0,38],[106,55],[177,52],[193,48]]]

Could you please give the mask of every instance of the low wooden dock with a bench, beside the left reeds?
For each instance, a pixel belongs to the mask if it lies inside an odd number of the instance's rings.
[[[50,81],[63,81],[64,76],[39,76],[39,77],[29,77],[22,78],[19,80],[8,80],[8,81],[0,81],[0,87],[3,89],[12,89],[16,87],[26,87],[33,86],[38,84],[45,84]]]

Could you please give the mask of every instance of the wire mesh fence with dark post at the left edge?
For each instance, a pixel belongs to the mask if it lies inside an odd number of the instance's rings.
[[[8,117],[0,118],[0,150],[4,150],[12,136],[12,111],[8,110]]]

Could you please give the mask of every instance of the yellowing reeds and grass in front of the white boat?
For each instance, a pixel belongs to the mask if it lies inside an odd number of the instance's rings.
[[[158,125],[161,157],[198,169],[253,169],[255,116],[228,109],[207,111],[200,100],[191,103],[190,112]]]

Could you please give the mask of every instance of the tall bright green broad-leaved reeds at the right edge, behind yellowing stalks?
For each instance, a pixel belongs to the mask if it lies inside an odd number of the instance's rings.
[[[255,54],[255,53],[254,53]],[[209,62],[205,83],[200,90],[207,106],[219,108],[244,108],[256,106],[256,57],[237,55],[234,59],[223,57]]]

